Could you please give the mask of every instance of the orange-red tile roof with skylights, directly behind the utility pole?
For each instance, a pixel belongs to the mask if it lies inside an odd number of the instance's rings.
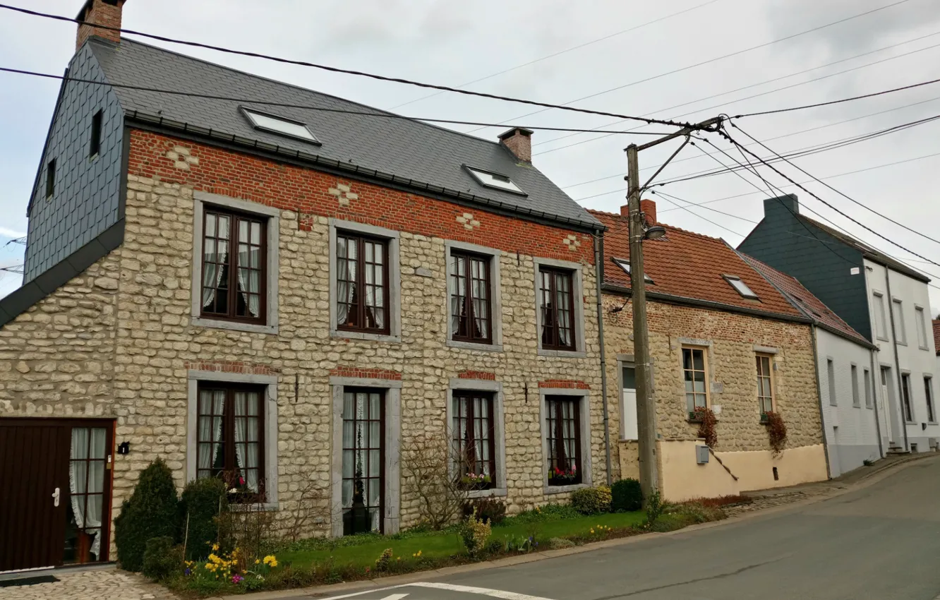
[[[589,212],[608,229],[603,237],[604,283],[629,288],[630,276],[613,262],[613,259],[630,260],[627,219],[619,214]],[[664,223],[657,225],[666,228],[666,236],[643,243],[644,270],[653,280],[652,284],[647,284],[650,292],[804,317],[724,240]],[[744,298],[730,286],[726,275],[741,277],[759,299]]]

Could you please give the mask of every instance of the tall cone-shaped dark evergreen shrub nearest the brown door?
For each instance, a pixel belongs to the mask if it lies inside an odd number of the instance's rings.
[[[121,568],[139,572],[150,538],[176,536],[177,504],[170,467],[157,459],[140,472],[133,494],[121,504],[115,519],[115,544]]]

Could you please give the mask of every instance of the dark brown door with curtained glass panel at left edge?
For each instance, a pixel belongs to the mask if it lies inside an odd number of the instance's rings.
[[[0,572],[107,561],[112,428],[0,419]]]

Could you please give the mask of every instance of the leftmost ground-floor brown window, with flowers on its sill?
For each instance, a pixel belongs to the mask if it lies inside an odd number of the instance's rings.
[[[264,387],[199,385],[196,478],[219,477],[238,500],[264,498]]]

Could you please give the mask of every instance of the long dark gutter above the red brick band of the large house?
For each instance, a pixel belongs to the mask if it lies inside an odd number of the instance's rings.
[[[523,214],[535,220],[550,222],[556,226],[562,225],[567,228],[578,229],[591,233],[594,231],[606,229],[600,222],[591,223],[589,221],[573,219],[571,217],[560,216],[552,213],[545,213],[535,209],[526,209],[525,207],[507,204],[489,197],[461,192],[459,190],[450,189],[442,185],[418,182],[410,178],[399,177],[398,175],[385,173],[384,171],[379,171],[377,169],[359,166],[353,163],[344,163],[337,161],[336,159],[321,156],[320,154],[313,154],[311,152],[305,152],[304,150],[291,150],[282,148],[277,144],[262,142],[257,139],[251,139],[249,137],[243,137],[237,134],[227,134],[225,132],[213,130],[210,127],[192,125],[190,123],[174,120],[171,118],[150,115],[149,113],[138,110],[125,112],[125,119],[127,121],[133,121],[137,125],[143,125],[144,127],[140,128],[149,131],[156,130],[158,132],[176,132],[189,134],[191,136],[196,136],[197,138],[209,138],[216,144],[219,142],[225,142],[227,144],[236,146],[241,150],[258,150],[263,152],[265,155],[270,153],[277,155],[281,159],[287,158],[300,161],[305,166],[309,166],[310,164],[324,166],[328,169],[335,169],[340,171],[345,175],[358,176],[359,178],[368,178],[372,181],[380,182],[384,186],[388,186],[388,184],[391,182],[393,184],[406,187],[412,191],[418,190],[425,193],[431,192],[431,194],[438,194],[440,196],[446,197],[446,199],[456,198],[464,202],[472,202],[474,204],[486,206],[488,208],[494,208],[500,211],[511,213],[514,216]]]

